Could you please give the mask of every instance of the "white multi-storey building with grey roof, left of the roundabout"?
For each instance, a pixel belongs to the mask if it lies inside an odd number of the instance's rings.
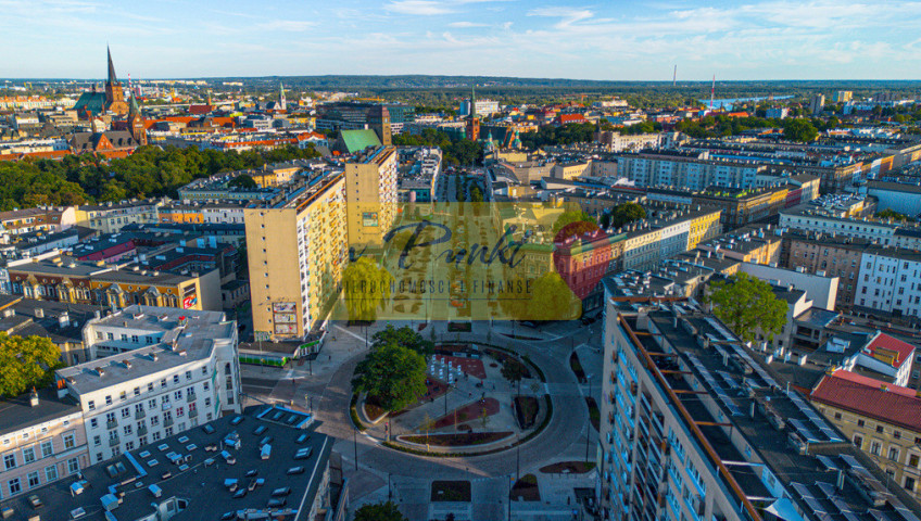
[[[55,372],[92,463],[241,410],[237,322],[223,313],[133,305],[84,336],[92,353],[118,353]]]

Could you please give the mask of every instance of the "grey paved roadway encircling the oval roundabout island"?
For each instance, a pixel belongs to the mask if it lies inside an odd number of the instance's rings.
[[[417,323],[411,325],[415,329]],[[402,325],[404,323],[394,323],[398,327]],[[368,338],[383,327],[383,323],[373,325],[367,331]],[[436,322],[434,327],[437,336],[446,334],[445,322]],[[547,340],[515,340],[507,336],[513,330],[516,335]],[[323,352],[312,364],[303,363],[285,369],[247,366],[243,369],[243,386],[250,399],[293,399],[298,405],[313,406],[320,423],[318,430],[337,439],[335,448],[343,456],[346,476],[354,478],[351,485],[352,498],[359,504],[363,497],[368,500],[379,497],[381,490],[386,494],[388,476],[391,480],[394,476],[401,480],[419,476],[503,478],[515,472],[518,458],[520,472],[525,474],[535,472],[551,462],[583,460],[586,448],[589,457],[594,459],[597,433],[588,421],[588,407],[583,397],[589,386],[577,383],[568,359],[570,353],[578,350],[585,373],[600,374],[602,358],[593,348],[601,345],[600,330],[601,321],[590,327],[582,327],[578,321],[551,323],[537,330],[499,321],[490,327],[489,321],[479,321],[474,322],[471,333],[462,333],[464,341],[484,343],[489,335],[491,343],[528,355],[544,371],[546,389],[553,401],[554,417],[543,432],[520,445],[517,450],[485,456],[463,459],[414,456],[382,447],[352,427],[349,416],[351,378],[355,365],[362,360],[367,350],[365,328],[333,325]],[[428,330],[422,333],[429,334]],[[452,339],[456,335],[457,333],[451,333]],[[597,383],[595,378],[592,385],[595,399],[598,399],[601,394]],[[504,499],[505,496],[501,497]],[[484,509],[483,517],[474,519],[504,519],[504,513],[501,517],[487,516],[490,508],[478,508]],[[411,519],[428,519],[426,508],[418,507],[417,510]],[[493,513],[499,516],[496,512]]]

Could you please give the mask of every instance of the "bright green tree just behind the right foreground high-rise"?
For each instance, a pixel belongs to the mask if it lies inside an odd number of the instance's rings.
[[[773,341],[783,329],[787,305],[774,295],[771,284],[740,272],[710,287],[705,301],[743,341],[754,342],[757,333]]]

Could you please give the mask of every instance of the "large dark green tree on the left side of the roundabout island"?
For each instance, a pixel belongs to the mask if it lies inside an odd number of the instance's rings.
[[[374,396],[383,409],[400,410],[426,393],[426,359],[391,342],[358,363],[352,386]]]

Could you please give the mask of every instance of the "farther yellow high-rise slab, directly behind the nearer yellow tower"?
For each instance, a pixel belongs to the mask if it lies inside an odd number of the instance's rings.
[[[349,245],[379,247],[396,218],[396,149],[378,147],[345,164]]]

